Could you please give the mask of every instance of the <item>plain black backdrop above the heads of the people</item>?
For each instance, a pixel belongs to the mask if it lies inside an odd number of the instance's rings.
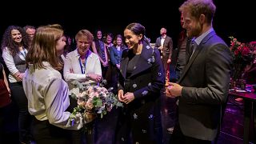
[[[140,22],[146,27],[146,36],[155,42],[159,30],[166,26],[167,34],[176,47],[181,30],[178,7],[184,0],[172,1],[62,1],[62,2],[1,2],[0,35],[7,26],[41,26],[61,24],[67,34],[74,36],[78,30],[101,28],[103,33],[122,34],[130,22]],[[37,3],[37,4],[35,4]],[[241,42],[256,40],[255,9],[253,1],[214,0],[217,6],[214,29],[227,44],[233,35]],[[4,10],[5,9],[5,10]],[[12,14],[10,14],[12,13]],[[240,16],[238,16],[240,15]]]

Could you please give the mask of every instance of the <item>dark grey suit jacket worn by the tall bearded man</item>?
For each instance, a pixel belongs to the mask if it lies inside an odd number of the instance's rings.
[[[178,83],[178,122],[182,133],[192,138],[214,140],[226,106],[230,70],[230,49],[215,32],[202,40],[183,70]]]

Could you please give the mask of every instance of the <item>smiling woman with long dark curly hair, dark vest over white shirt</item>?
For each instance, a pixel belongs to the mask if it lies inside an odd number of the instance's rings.
[[[25,57],[28,37],[20,26],[9,26],[2,36],[2,58],[6,62],[10,74],[11,96],[18,105],[19,141],[30,141],[31,115],[28,112],[27,98],[22,86],[22,78],[26,70]]]

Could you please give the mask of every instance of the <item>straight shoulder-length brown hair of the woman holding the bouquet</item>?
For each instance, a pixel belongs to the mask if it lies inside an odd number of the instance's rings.
[[[58,58],[56,45],[63,35],[62,26],[40,26],[36,30],[31,50],[26,55],[26,66],[34,64],[34,68],[44,68],[42,62],[49,62],[55,70],[62,69],[62,62]]]

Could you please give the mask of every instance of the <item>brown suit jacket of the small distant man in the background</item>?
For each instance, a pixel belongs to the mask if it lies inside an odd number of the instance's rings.
[[[161,46],[161,37],[157,38],[155,42],[154,48],[157,48]],[[162,56],[171,58],[173,50],[173,40],[169,36],[166,35],[165,41],[163,42],[163,48],[162,48]]]

